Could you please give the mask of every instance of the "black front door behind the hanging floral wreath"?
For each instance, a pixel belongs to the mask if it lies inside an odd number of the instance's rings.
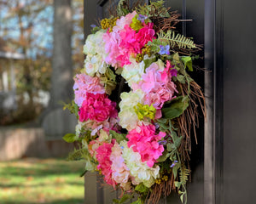
[[[84,35],[109,3],[84,0]],[[147,1],[146,1],[147,2]],[[183,22],[178,29],[204,44],[195,80],[203,87],[207,119],[191,155],[189,204],[256,203],[256,13],[253,1],[166,0]],[[99,201],[99,200],[98,200]],[[102,203],[102,202],[98,202]],[[181,203],[177,195],[167,203]]]

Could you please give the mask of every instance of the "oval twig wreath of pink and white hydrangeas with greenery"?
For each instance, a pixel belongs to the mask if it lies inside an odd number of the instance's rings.
[[[79,119],[76,133],[63,138],[80,144],[69,157],[85,159],[85,172],[120,188],[116,203],[135,192],[134,203],[158,203],[172,190],[187,201],[197,104],[205,114],[201,88],[188,74],[199,48],[174,31],[179,14],[163,4],[129,8],[123,0],[117,14],[92,26],[66,105]]]

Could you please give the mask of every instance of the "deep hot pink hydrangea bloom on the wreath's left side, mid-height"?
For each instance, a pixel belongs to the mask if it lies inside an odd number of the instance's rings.
[[[84,122],[88,119],[96,122],[103,122],[109,117],[117,117],[115,102],[108,99],[107,94],[86,94],[86,99],[79,109],[79,121]]]

